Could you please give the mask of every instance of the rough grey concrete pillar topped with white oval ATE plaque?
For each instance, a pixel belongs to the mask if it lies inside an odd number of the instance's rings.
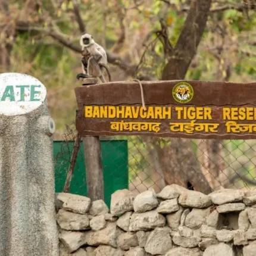
[[[0,255],[58,256],[52,139],[46,89],[0,74]]]

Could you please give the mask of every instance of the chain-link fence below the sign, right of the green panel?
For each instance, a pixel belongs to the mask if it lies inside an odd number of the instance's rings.
[[[171,148],[171,142],[174,140],[180,144],[186,141],[186,148],[180,149],[182,146],[174,143],[174,148],[170,151],[168,148]],[[128,141],[130,190],[136,193],[150,187],[160,191],[163,186],[171,183],[170,180],[186,185],[189,189],[195,188],[199,180],[208,183],[212,191],[220,188],[256,188],[255,140],[158,138],[146,142],[135,136],[128,138]],[[182,151],[183,155],[179,156],[179,161],[175,154],[170,154],[175,151],[178,151],[177,155]],[[197,177],[191,179],[186,173],[191,171],[189,169],[192,169]],[[205,187],[199,187],[199,190],[204,191]]]

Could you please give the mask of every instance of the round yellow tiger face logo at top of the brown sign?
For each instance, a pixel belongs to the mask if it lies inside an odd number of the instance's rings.
[[[173,87],[173,98],[179,103],[186,103],[193,98],[193,88],[189,83],[180,82]]]

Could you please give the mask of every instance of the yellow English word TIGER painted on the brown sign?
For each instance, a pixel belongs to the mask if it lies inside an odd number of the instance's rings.
[[[208,107],[176,107],[177,119],[212,120],[211,108]]]

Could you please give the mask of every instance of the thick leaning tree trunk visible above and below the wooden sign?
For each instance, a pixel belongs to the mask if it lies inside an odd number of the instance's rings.
[[[211,0],[191,1],[182,32],[164,67],[162,80],[185,79],[204,32],[210,7]],[[192,185],[196,191],[203,193],[212,191],[198,166],[190,139],[171,139],[171,146],[158,147],[158,157],[161,159],[166,183],[177,183],[186,188]]]

